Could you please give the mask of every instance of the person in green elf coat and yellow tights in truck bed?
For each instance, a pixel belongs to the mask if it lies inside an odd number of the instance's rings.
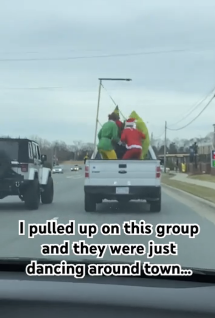
[[[118,116],[112,113],[108,116],[108,119],[98,133],[99,143],[97,148],[103,159],[114,160],[117,159],[114,145],[119,142],[119,130],[116,124]]]

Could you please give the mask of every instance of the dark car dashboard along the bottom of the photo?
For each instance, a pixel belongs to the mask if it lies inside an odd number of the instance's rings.
[[[138,277],[0,272],[0,316],[214,317],[215,284]]]

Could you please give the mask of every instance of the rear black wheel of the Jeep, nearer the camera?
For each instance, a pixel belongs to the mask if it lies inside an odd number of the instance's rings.
[[[31,181],[24,195],[25,206],[28,210],[38,210],[40,205],[39,180]]]

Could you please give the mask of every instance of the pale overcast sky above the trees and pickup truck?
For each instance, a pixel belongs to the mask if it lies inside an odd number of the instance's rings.
[[[98,78],[128,77],[103,84],[159,137],[215,88],[214,0],[1,0],[0,21],[1,134],[92,142]],[[101,123],[113,109],[102,90]],[[215,100],[167,136],[204,136],[213,123]]]

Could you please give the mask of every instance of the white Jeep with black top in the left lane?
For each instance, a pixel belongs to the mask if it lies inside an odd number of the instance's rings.
[[[36,141],[0,138],[0,199],[18,196],[29,210],[38,210],[40,200],[51,204],[54,185],[46,161]]]

